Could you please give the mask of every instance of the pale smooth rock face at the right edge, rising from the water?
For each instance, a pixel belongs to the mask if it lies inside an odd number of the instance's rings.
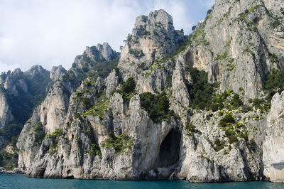
[[[284,183],[284,92],[276,93],[268,114],[268,128],[263,144],[264,175],[275,183]]]

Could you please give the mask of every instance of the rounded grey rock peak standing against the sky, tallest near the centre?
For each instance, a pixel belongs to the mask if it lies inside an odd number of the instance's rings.
[[[183,33],[175,31],[172,16],[164,10],[138,16],[131,35],[124,41],[126,45],[121,50],[119,68],[131,70],[131,65],[139,63],[150,66],[155,60],[173,53],[182,38]]]

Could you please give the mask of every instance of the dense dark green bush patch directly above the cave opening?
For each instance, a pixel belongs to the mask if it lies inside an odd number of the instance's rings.
[[[158,95],[151,92],[144,92],[140,95],[141,107],[148,112],[148,116],[158,123],[162,120],[170,120],[174,115],[173,110],[170,111],[170,102],[165,91]]]

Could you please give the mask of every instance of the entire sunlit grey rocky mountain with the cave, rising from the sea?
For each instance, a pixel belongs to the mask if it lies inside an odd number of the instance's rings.
[[[43,178],[283,183],[283,7],[217,0],[190,36],[163,10],[138,16],[120,55],[87,47],[50,74],[18,138],[18,167]]]

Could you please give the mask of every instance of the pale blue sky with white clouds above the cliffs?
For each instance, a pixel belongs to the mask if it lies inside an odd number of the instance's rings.
[[[164,9],[185,34],[215,0],[0,0],[0,72],[33,65],[69,69],[86,46],[124,45],[135,19]]]

